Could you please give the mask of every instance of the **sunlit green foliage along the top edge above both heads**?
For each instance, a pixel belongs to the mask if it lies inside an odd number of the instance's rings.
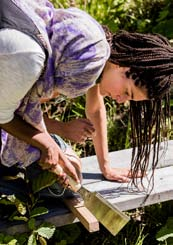
[[[57,8],[75,6],[113,32],[120,29],[157,32],[173,37],[173,2],[169,0],[52,0]]]

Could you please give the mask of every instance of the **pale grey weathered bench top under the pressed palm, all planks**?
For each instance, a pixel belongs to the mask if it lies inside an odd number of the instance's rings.
[[[84,186],[89,191],[98,191],[105,199],[112,204],[115,204],[122,211],[172,200],[172,152],[173,141],[169,141],[168,150],[165,155],[163,154],[163,146],[161,145],[160,160],[154,175],[154,189],[151,193],[150,189],[148,192],[137,191],[136,188],[134,188],[134,186],[130,186],[130,184],[107,181],[103,179],[95,157],[83,159]],[[111,152],[109,156],[112,167],[130,166],[131,149]],[[147,178],[149,177],[150,169]],[[148,187],[147,178],[144,178],[144,185],[146,189]],[[148,197],[149,193],[150,195]]]

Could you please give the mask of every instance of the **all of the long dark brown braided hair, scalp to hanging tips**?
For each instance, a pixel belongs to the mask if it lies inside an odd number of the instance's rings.
[[[136,86],[146,88],[149,98],[145,101],[130,101],[133,147],[131,171],[134,184],[138,171],[141,171],[142,183],[149,166],[149,156],[152,158],[152,170],[157,166],[163,130],[164,139],[167,138],[173,48],[165,37],[158,34],[120,31],[112,35],[107,28],[103,28],[111,47],[109,61],[129,67],[127,77],[131,77]]]

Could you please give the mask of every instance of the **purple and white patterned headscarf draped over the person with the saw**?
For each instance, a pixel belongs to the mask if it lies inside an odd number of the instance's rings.
[[[39,99],[54,90],[69,98],[83,95],[95,84],[110,55],[101,26],[77,8],[55,9],[47,0],[12,0],[40,30],[48,49],[44,74],[23,98],[16,114],[45,128]],[[2,130],[2,164],[27,166],[40,151]]]

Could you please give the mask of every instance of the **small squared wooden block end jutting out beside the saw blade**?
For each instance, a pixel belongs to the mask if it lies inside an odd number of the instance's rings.
[[[89,232],[99,230],[99,222],[95,216],[84,206],[83,200],[80,198],[66,198],[63,199],[65,205],[72,211],[72,213],[79,219],[83,226]]]

